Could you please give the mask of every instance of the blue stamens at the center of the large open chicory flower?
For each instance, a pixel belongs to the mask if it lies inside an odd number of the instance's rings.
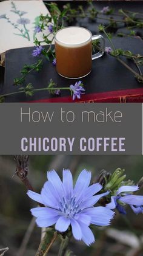
[[[63,197],[61,202],[59,202],[59,211],[68,218],[74,217],[76,213],[81,212],[81,202],[77,203],[75,196],[72,196],[70,199]]]

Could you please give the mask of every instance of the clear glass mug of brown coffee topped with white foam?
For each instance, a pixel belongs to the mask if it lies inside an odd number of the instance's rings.
[[[92,41],[101,40],[102,49],[92,55]],[[81,78],[90,74],[92,60],[104,54],[102,35],[93,35],[84,27],[64,27],[55,34],[56,71],[65,78]]]

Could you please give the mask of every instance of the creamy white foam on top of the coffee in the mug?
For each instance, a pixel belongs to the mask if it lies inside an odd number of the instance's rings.
[[[90,32],[82,27],[66,27],[56,33],[58,44],[66,47],[77,47],[79,44],[80,46],[81,44],[85,45],[90,38]]]

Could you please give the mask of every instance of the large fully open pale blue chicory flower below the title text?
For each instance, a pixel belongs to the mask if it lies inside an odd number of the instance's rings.
[[[95,241],[90,224],[108,226],[114,216],[106,207],[93,207],[108,192],[95,195],[102,186],[99,183],[90,185],[91,172],[86,170],[78,176],[75,187],[70,170],[63,170],[62,181],[54,170],[47,172],[47,178],[41,194],[27,192],[30,198],[45,206],[31,209],[36,223],[39,227],[55,224],[59,232],[65,232],[71,225],[73,237],[89,246]]]

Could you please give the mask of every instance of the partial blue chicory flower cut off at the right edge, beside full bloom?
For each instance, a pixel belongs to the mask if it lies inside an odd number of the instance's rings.
[[[108,209],[118,209],[120,213],[126,214],[124,205],[128,204],[136,214],[143,213],[143,196],[132,195],[139,189],[138,185],[123,185],[118,189],[115,196],[111,196]]]

